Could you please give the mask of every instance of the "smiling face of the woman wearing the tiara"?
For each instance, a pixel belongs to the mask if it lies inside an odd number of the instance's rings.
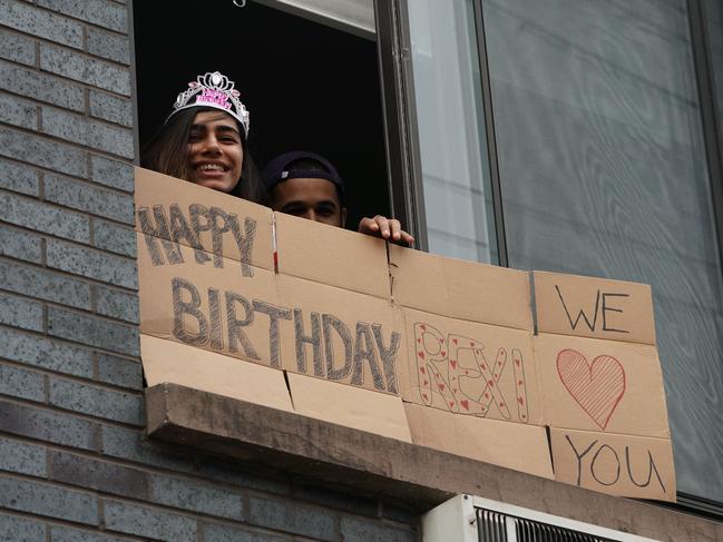
[[[244,149],[238,125],[223,111],[196,114],[187,147],[192,183],[229,193],[241,178]]]

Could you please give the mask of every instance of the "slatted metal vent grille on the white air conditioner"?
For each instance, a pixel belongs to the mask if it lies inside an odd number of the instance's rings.
[[[479,542],[619,542],[486,509],[476,515]]]

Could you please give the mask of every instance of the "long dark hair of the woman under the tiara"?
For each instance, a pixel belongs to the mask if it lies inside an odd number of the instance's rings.
[[[155,171],[170,175],[178,179],[190,178],[188,170],[187,147],[190,136],[190,127],[196,114],[202,111],[218,111],[211,107],[192,107],[178,111],[160,128],[160,130],[148,141],[140,151],[140,165]],[[235,120],[235,119],[234,119]],[[255,204],[267,205],[266,189],[248,152],[248,145],[244,137],[243,127],[238,125],[241,134],[241,146],[244,151],[244,160],[241,168],[241,179],[231,191],[232,195],[247,199]]]

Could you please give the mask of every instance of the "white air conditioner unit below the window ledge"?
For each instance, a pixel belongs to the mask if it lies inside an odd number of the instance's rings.
[[[429,511],[422,532],[423,542],[660,542],[471,495]]]

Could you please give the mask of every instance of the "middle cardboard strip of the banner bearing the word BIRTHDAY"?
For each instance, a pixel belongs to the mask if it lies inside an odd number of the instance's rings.
[[[389,302],[233,260],[154,265],[138,234],[140,332],[273,368],[397,395],[406,345]],[[154,295],[145,295],[146,292]]]

